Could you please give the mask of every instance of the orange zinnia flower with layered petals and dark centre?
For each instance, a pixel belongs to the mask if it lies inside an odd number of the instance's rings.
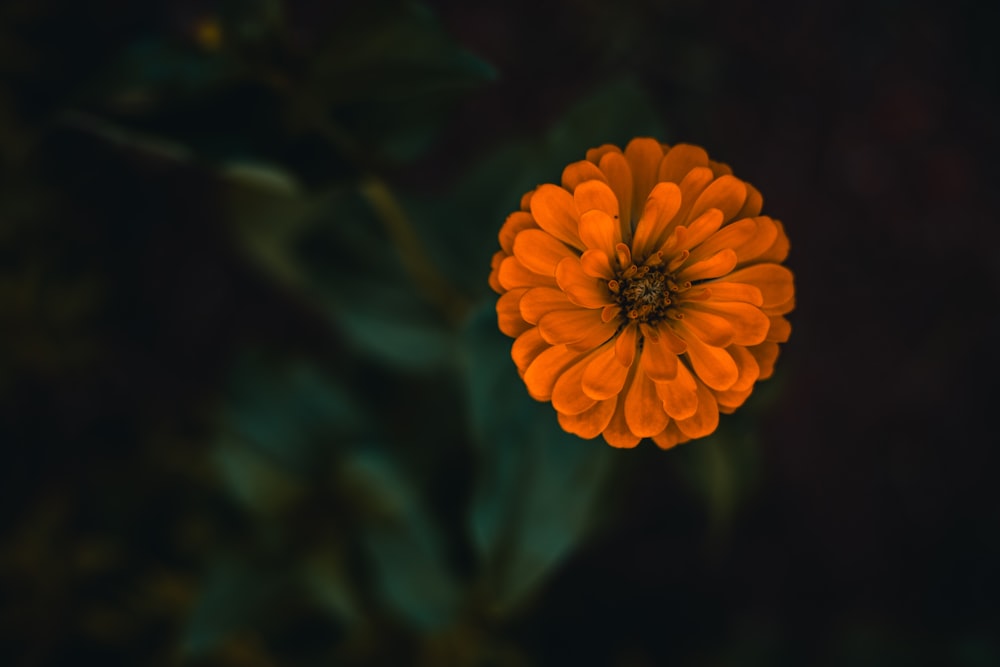
[[[521,199],[490,285],[528,393],[614,447],[712,433],[771,376],[791,327],[788,238],[732,170],[688,144],[587,151]]]

